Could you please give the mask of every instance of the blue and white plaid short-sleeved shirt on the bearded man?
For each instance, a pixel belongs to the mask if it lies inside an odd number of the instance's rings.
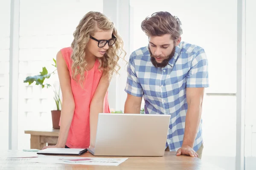
[[[204,49],[180,42],[175,55],[164,68],[156,68],[150,61],[148,47],[137,49],[128,63],[125,91],[145,100],[145,113],[170,114],[166,147],[177,151],[183,142],[185,118],[188,109],[186,88],[206,88],[208,62]],[[193,149],[201,147],[202,120]]]

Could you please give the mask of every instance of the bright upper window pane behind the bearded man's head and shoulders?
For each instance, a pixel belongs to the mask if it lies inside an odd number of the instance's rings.
[[[206,51],[210,78],[206,91],[236,93],[236,1],[130,0],[130,6],[131,52],[148,45],[148,38],[140,28],[145,17],[157,11],[168,11],[182,23],[181,40]]]

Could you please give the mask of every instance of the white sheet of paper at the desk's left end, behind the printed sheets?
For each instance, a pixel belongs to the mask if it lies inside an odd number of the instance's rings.
[[[24,152],[22,150],[0,150],[0,158],[31,158],[44,157],[36,152]]]

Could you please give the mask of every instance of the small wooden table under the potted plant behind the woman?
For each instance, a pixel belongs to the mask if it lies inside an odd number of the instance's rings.
[[[42,149],[48,145],[55,145],[58,142],[59,129],[49,130],[25,130],[26,134],[30,134],[30,148]]]

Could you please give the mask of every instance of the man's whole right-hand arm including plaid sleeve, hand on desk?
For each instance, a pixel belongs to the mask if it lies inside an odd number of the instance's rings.
[[[196,51],[195,51],[196,52]],[[183,143],[177,150],[177,156],[190,155],[198,157],[193,150],[198,126],[201,121],[204,88],[209,87],[208,60],[203,48],[200,48],[191,61],[190,70],[186,75],[186,112]]]

